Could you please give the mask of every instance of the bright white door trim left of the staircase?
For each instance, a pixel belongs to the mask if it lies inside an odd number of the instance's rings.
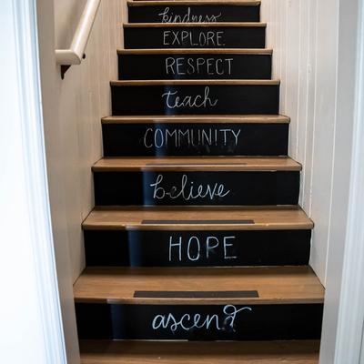
[[[52,236],[35,0],[0,3],[1,360],[66,364]]]

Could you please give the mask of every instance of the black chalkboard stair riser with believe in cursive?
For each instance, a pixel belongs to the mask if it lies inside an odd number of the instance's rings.
[[[221,193],[213,197],[205,195],[188,198],[190,195],[185,192],[179,193],[178,197],[168,197],[174,187],[180,192],[182,184],[185,184],[185,191],[189,191],[192,185],[195,186],[193,196],[197,196],[199,185],[203,186],[204,191],[209,186],[210,191],[215,187],[215,192],[220,190]],[[94,185],[96,206],[297,205],[299,171],[94,171]]]

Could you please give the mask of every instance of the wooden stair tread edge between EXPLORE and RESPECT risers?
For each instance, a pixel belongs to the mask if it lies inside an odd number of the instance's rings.
[[[174,55],[174,54],[237,54],[237,55],[272,55],[270,48],[151,48],[117,49],[118,55]]]

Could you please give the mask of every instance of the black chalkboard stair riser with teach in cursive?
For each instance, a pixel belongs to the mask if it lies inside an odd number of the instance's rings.
[[[279,85],[264,83],[111,84],[113,116],[278,115]],[[183,82],[183,81],[179,81]],[[192,82],[192,81],[191,81]]]

